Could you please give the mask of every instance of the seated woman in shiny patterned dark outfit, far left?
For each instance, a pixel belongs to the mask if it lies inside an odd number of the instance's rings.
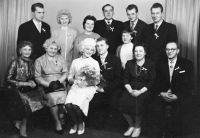
[[[11,62],[5,75],[8,88],[6,97],[15,126],[20,129],[20,136],[27,137],[28,115],[43,108],[44,104],[34,82],[33,61],[29,58],[33,45],[29,41],[22,41],[18,47],[20,56]]]

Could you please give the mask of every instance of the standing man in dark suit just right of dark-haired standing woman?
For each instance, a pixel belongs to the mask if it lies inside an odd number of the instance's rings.
[[[94,32],[108,39],[108,52],[115,55],[117,47],[122,44],[123,23],[113,19],[114,7],[106,4],[102,8],[104,19],[95,23]]]

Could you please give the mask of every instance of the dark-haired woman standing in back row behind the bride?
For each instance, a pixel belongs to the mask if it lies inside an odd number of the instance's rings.
[[[100,35],[92,32],[94,29],[94,25],[96,22],[96,18],[94,16],[88,15],[84,18],[83,20],[83,29],[84,32],[78,35],[75,39],[74,43],[74,52],[73,52],[73,59],[81,57],[82,53],[80,51],[81,48],[81,42],[85,38],[93,38],[93,39],[98,39]]]

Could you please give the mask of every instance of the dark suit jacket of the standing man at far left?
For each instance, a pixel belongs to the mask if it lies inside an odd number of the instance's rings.
[[[42,22],[41,33],[36,28],[33,20],[21,24],[18,30],[17,55],[19,56],[18,44],[21,41],[26,40],[30,41],[34,47],[31,58],[35,60],[36,58],[42,56],[45,53],[43,44],[48,38],[50,38],[50,36],[50,26],[45,22]]]

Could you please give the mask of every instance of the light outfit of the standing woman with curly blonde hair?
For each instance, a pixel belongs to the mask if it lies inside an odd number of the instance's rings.
[[[74,40],[77,36],[77,31],[69,27],[60,27],[52,32],[52,38],[58,40],[61,44],[61,55],[67,61],[68,70],[71,66]]]

